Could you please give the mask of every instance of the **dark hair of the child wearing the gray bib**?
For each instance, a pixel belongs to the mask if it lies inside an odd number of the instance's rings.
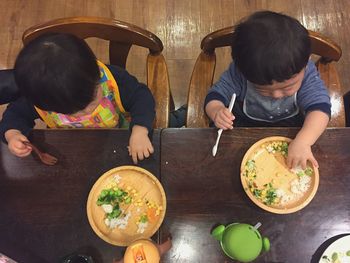
[[[310,54],[308,31],[295,18],[260,11],[235,26],[232,58],[255,84],[290,79],[306,66]]]

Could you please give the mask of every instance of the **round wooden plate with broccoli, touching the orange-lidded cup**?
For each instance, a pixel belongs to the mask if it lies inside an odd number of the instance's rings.
[[[103,190],[116,188],[127,192],[131,202],[120,203],[122,213],[118,219],[122,219],[122,223],[110,227],[105,223],[107,213],[97,205],[97,200]],[[152,216],[148,216],[149,211],[153,211]],[[162,185],[153,174],[136,166],[120,166],[104,173],[93,185],[87,200],[87,216],[92,229],[104,241],[117,246],[150,238],[162,224],[165,211]],[[148,225],[140,228],[140,220],[145,215],[149,217]]]

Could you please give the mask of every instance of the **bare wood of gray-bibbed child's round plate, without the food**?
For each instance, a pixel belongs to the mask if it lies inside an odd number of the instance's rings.
[[[243,157],[241,164],[241,182],[243,189],[245,190],[248,197],[260,208],[276,214],[288,214],[296,212],[304,208],[307,204],[311,202],[316,194],[318,184],[319,184],[319,173],[318,169],[314,167],[310,162],[308,166],[313,169],[313,173],[310,176],[311,182],[310,187],[306,192],[300,194],[297,198],[292,199],[290,202],[284,202],[283,204],[265,204],[263,200],[256,197],[249,187],[248,177],[245,175],[246,164],[248,160],[254,160],[256,169],[256,182],[257,188],[265,186],[271,182],[276,182],[281,187],[284,186],[286,189],[290,186],[290,183],[297,179],[298,176],[291,172],[286,165],[286,157],[281,153],[271,153],[268,152],[266,146],[272,142],[287,142],[291,141],[290,138],[273,136],[264,138],[256,143],[254,143]],[[273,183],[271,183],[273,185]],[[252,189],[254,189],[254,187]],[[278,187],[277,187],[278,188]],[[292,192],[290,192],[292,196]]]

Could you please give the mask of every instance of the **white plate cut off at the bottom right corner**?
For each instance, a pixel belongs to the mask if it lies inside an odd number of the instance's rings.
[[[350,263],[350,256],[346,255],[348,251],[350,251],[350,235],[341,237],[330,244],[323,252],[319,263]],[[338,261],[332,259],[334,253],[337,253]]]

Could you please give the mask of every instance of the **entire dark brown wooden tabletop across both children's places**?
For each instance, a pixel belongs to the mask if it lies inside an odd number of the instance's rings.
[[[257,140],[294,137],[297,129],[234,129],[224,132],[211,156],[214,129],[155,131],[155,154],[140,166],[164,186],[167,212],[160,239],[170,232],[173,248],[162,262],[230,262],[210,236],[218,223],[261,222],[271,251],[257,262],[318,262],[331,237],[350,233],[350,129],[328,129],[313,147],[320,185],[312,202],[289,215],[255,206],[240,183],[244,153]],[[124,248],[101,240],[86,216],[89,191],[105,171],[130,165],[125,130],[35,130],[37,146],[59,158],[53,167],[0,148],[0,252],[19,262],[58,262],[85,252],[111,262]],[[155,238],[158,238],[156,236]]]

